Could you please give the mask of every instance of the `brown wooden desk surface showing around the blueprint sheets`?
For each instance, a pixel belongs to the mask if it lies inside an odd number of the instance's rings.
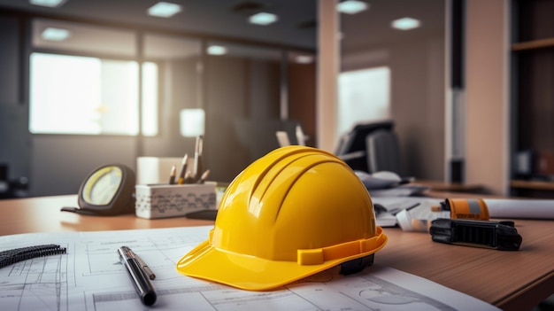
[[[212,225],[187,218],[146,220],[133,214],[115,217],[62,213],[76,196],[0,200],[0,235],[27,232],[150,229]],[[375,260],[423,276],[505,310],[531,309],[554,289],[554,226],[549,221],[516,220],[523,237],[519,252],[442,245],[427,233],[386,228],[389,244]]]

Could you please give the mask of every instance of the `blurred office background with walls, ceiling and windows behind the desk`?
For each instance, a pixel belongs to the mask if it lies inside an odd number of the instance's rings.
[[[148,14],[155,0],[35,1],[0,0],[0,177],[16,195],[76,193],[94,167],[192,154],[199,133],[210,179],[221,182],[266,152],[260,139],[276,147],[276,127],[300,125],[319,147],[326,0],[173,0],[181,11],[167,18]],[[333,141],[358,123],[393,121],[404,175],[507,193],[510,2],[361,2],[361,12],[336,12],[328,34],[340,42]],[[270,19],[250,22],[259,12]],[[408,27],[392,27],[398,19]],[[488,74],[471,71],[473,51],[494,51],[478,59],[493,59]],[[465,81],[498,83],[465,91],[452,83],[456,68]],[[497,115],[474,113],[470,98]],[[492,151],[476,156],[479,144]]]

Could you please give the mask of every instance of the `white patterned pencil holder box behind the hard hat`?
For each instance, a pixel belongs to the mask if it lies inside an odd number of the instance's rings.
[[[204,209],[216,209],[216,183],[137,184],[135,214],[155,219],[179,217]]]

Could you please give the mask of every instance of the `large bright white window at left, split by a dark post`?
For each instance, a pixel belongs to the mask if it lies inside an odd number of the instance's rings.
[[[153,93],[158,92],[158,68],[154,63],[146,63],[144,69],[143,81],[148,83],[143,93],[142,128],[148,135],[155,135],[158,97]],[[138,74],[135,61],[32,53],[29,131],[137,135]]]

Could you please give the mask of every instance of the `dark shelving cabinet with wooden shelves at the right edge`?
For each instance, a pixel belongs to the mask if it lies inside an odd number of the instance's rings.
[[[512,195],[554,198],[553,12],[551,0],[512,1],[512,151],[532,155],[526,174],[514,166]]]

